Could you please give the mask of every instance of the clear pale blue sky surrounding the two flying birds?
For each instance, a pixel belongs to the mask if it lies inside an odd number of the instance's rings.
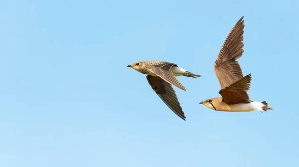
[[[249,95],[229,113],[213,64],[245,16]],[[298,167],[298,0],[2,0],[0,167]],[[187,121],[127,65],[200,74],[174,88]]]

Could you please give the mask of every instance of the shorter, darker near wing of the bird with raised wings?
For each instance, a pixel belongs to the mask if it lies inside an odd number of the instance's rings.
[[[222,96],[222,102],[228,105],[251,102],[247,94],[250,81],[251,74],[248,74],[228,87],[221,89],[219,94]]]

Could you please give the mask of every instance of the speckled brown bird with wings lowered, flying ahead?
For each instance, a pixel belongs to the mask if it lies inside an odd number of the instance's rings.
[[[174,85],[184,91],[185,87],[176,79],[176,76],[187,77],[201,77],[200,75],[193,74],[183,68],[178,67],[174,63],[165,61],[139,61],[128,65],[138,72],[147,74],[149,85],[153,91],[162,99],[162,101],[180,118],[186,120],[184,112],[178,102],[175,91],[171,85]]]

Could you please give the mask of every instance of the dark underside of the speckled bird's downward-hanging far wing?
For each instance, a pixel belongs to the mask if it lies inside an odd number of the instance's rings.
[[[171,84],[164,81],[160,77],[147,75],[149,85],[152,90],[162,99],[162,101],[180,118],[186,120],[184,112],[180,107],[175,91]]]

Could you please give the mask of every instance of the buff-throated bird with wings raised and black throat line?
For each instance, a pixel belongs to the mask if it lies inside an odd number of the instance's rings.
[[[243,77],[242,69],[236,61],[244,52],[243,17],[228,34],[214,63],[214,72],[221,86],[219,91],[221,97],[199,103],[211,110],[229,112],[273,110],[266,102],[250,100],[247,91],[250,88],[251,74]]]

